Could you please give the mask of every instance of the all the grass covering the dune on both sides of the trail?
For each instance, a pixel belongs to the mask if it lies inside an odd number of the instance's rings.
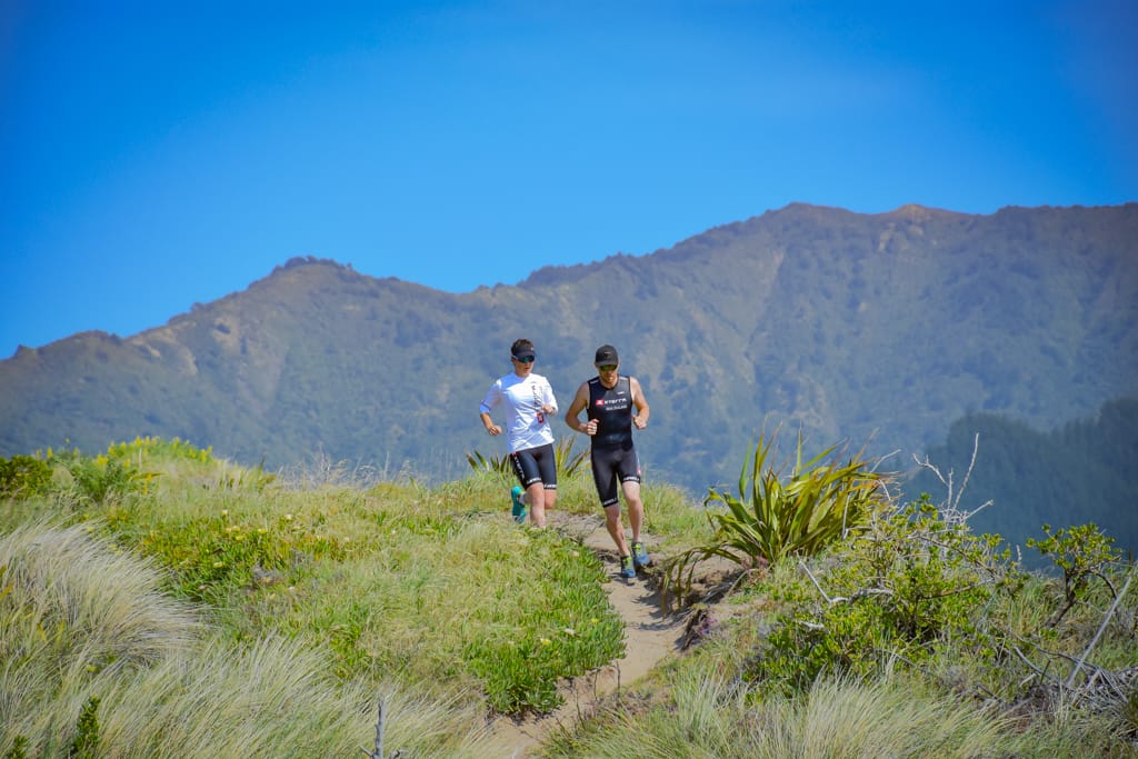
[[[514,525],[496,471],[436,487],[328,462],[273,477],[160,440],[46,461],[50,481],[0,498],[0,756],[67,756],[84,736],[92,756],[358,756],[382,701],[388,750],[509,757],[490,717],[552,709],[560,683],[624,652],[599,559]],[[709,538],[687,495],[650,482],[644,496],[653,553]],[[587,475],[561,482],[558,510],[600,521]],[[847,550],[811,560],[819,584],[834,587]],[[799,691],[757,679],[778,612],[809,610],[811,588],[795,560],[750,570],[702,643],[538,751],[1135,756],[1132,716],[1013,708],[1040,676],[965,637],[921,666],[871,654],[858,676],[823,668]],[[1136,662],[1136,596],[1092,666]],[[1063,602],[1031,576],[979,611],[1062,675],[1111,599],[1096,585],[1048,629]]]

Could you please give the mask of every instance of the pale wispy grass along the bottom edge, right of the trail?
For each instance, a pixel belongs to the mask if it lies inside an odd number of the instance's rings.
[[[998,715],[905,678],[822,678],[795,698],[757,699],[721,669],[701,666],[679,670],[662,693],[642,710],[635,703],[611,706],[597,720],[601,727],[561,734],[543,756],[869,759],[1038,756],[1042,750],[1041,742],[1009,729]]]

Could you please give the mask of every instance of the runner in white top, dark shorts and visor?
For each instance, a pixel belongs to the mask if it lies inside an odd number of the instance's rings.
[[[534,373],[536,358],[530,340],[514,340],[510,346],[513,371],[490,386],[478,410],[483,427],[497,436],[502,428],[490,419],[490,411],[500,403],[505,405],[510,463],[521,482],[511,493],[513,517],[519,522],[525,521],[528,504],[530,521],[545,527],[545,510],[552,509],[558,497],[558,467],[550,428],[550,416],[558,413],[558,402],[549,380]]]

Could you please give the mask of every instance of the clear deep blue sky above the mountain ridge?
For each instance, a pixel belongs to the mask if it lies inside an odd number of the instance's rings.
[[[0,0],[0,357],[294,256],[463,292],[793,201],[1135,201],[1136,32],[1132,0]]]

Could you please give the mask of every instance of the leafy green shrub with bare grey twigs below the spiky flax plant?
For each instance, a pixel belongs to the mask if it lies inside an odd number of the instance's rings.
[[[1007,634],[987,616],[990,602],[1024,579],[999,543],[943,519],[927,497],[880,509],[814,570],[800,562],[798,583],[772,589],[782,611],[750,675],[799,691],[823,671],[866,676],[889,661],[921,665],[949,642],[993,662]]]

